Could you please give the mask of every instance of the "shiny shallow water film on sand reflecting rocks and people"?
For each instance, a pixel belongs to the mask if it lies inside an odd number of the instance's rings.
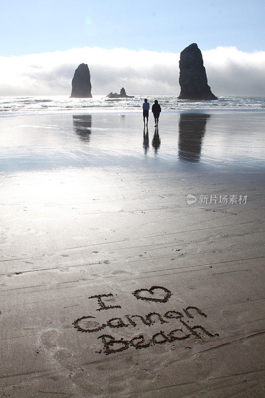
[[[1,172],[134,166],[262,167],[265,112],[32,115],[0,119]]]

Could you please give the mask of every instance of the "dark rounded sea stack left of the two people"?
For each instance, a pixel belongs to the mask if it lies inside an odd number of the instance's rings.
[[[72,80],[72,98],[92,98],[88,64],[80,64]]]

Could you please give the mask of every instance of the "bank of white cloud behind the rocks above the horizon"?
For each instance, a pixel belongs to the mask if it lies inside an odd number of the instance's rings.
[[[217,96],[264,96],[265,51],[245,53],[236,47],[202,51],[208,83]],[[75,48],[19,57],[0,57],[0,95],[70,95],[75,69],[87,63],[92,95],[178,95],[179,54]]]

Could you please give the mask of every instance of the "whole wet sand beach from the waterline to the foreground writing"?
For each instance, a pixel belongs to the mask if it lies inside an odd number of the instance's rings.
[[[0,118],[1,396],[264,397],[264,121]]]

